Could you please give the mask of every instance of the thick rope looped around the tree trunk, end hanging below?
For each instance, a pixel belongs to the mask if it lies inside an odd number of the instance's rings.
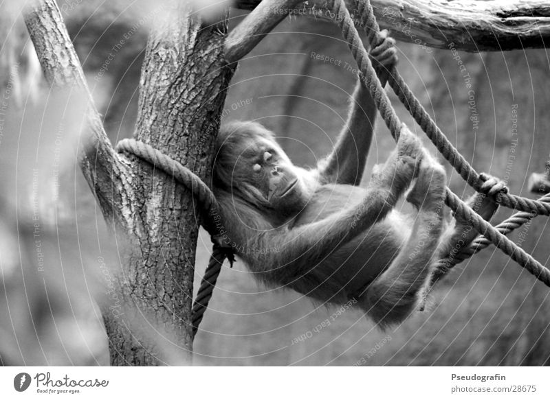
[[[168,176],[172,176],[177,182],[181,183],[181,185],[187,187],[192,192],[193,196],[197,197],[199,206],[203,211],[203,216],[206,218],[206,223],[203,223],[203,226],[208,233],[210,233],[214,246],[212,247],[212,255],[210,255],[208,267],[201,280],[197,297],[192,305],[191,323],[192,338],[194,339],[204,312],[208,308],[208,303],[212,297],[212,291],[218,280],[223,261],[227,258],[231,265],[234,261],[231,249],[220,246],[219,241],[216,240],[217,232],[214,230],[215,224],[214,220],[212,220],[210,211],[219,208],[218,202],[214,197],[214,193],[212,193],[210,188],[203,183],[201,178],[195,175],[187,167],[184,167],[184,165],[181,165],[181,163],[166,156],[166,154],[162,154],[162,152],[153,148],[151,145],[135,139],[122,139],[116,145],[116,150],[142,158],[142,160],[147,161],[153,165],[153,167],[160,169]]]

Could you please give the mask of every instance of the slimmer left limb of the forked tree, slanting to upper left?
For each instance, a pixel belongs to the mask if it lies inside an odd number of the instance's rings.
[[[113,204],[117,204],[113,187],[118,182],[113,181],[113,176],[118,174],[113,172],[120,163],[116,162],[118,156],[104,131],[63,16],[54,0],[30,1],[23,16],[47,82],[58,89],[77,89],[85,96],[87,131],[83,134],[83,146],[78,148],[78,159],[109,223],[116,209]]]

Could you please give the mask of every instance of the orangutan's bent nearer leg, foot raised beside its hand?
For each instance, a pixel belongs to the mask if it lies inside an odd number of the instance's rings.
[[[443,231],[445,183],[445,169],[431,157],[423,157],[417,183],[408,194],[408,200],[419,205],[408,242],[358,299],[382,327],[401,322],[414,311],[430,280],[430,264]]]

